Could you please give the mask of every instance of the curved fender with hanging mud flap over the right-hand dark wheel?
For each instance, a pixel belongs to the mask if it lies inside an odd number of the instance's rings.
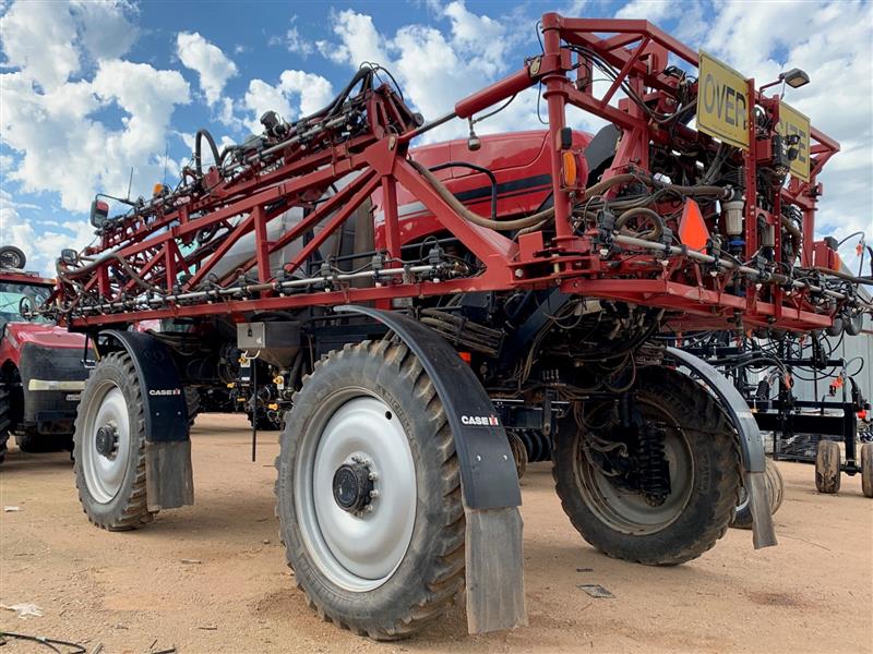
[[[727,377],[711,365],[677,348],[667,348],[667,354],[699,376],[720,400],[721,407],[733,423],[740,438],[743,459],[743,484],[749,493],[749,507],[752,512],[752,542],[755,549],[776,545],[770,502],[764,471],[767,461],[764,456],[764,440],[755,416],[749,410],[743,396]]]

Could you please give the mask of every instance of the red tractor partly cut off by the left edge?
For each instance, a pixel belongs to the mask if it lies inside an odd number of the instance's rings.
[[[25,452],[71,449],[88,371],[85,337],[33,315],[53,279],[26,272],[24,253],[0,247],[0,462],[14,435]]]

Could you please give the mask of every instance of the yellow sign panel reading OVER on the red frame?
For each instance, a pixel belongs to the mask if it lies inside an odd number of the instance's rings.
[[[697,129],[749,149],[749,86],[745,77],[704,51],[697,77]]]

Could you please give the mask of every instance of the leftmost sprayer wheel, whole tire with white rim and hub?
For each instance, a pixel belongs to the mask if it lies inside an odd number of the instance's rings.
[[[75,421],[75,485],[97,526],[136,529],[151,522],[145,489],[145,407],[133,361],[104,356],[92,371]]]

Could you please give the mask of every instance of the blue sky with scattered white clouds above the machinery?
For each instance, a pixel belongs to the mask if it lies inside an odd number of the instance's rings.
[[[0,242],[49,272],[92,237],[97,191],[175,179],[201,126],[240,141],[256,117],[318,108],[362,60],[385,64],[426,117],[538,51],[543,11],[645,17],[757,80],[799,65],[786,99],[838,138],[820,234],[873,240],[873,12],[865,2],[3,2],[0,0]],[[482,132],[536,126],[527,94]],[[594,128],[574,116],[576,126]],[[464,125],[447,125],[442,137]],[[165,152],[167,157],[165,160]],[[847,244],[848,245],[848,244]],[[851,263],[851,251],[845,251]]]

